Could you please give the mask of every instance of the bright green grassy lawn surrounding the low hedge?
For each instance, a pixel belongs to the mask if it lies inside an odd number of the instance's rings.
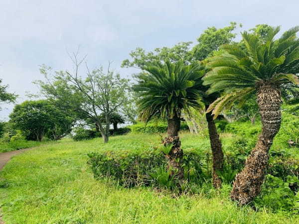
[[[224,135],[224,145],[232,138]],[[182,148],[205,150],[208,139],[182,134]],[[100,150],[148,148],[158,145],[155,134],[40,145],[15,156],[1,171],[0,203],[6,224],[101,223],[299,223],[299,217],[238,208],[222,192],[203,189],[195,196],[171,197],[150,188],[124,189],[95,181],[86,164],[87,153]]]

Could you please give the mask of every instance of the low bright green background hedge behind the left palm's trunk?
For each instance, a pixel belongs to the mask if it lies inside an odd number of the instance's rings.
[[[132,132],[140,133],[160,133],[167,131],[166,123],[137,123],[129,126]],[[185,122],[181,123],[181,130],[189,130],[188,125]]]

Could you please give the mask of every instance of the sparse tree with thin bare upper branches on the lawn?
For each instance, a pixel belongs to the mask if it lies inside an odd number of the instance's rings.
[[[51,75],[51,68],[42,66],[40,72],[46,82],[37,81],[44,96],[59,100],[68,110],[76,112],[77,117],[89,119],[99,127],[104,142],[109,140],[111,114],[120,110],[128,101],[129,80],[110,70],[93,69],[86,66],[86,78],[79,75],[79,67],[84,61],[78,60],[78,52],[71,57],[75,71],[60,71]],[[101,121],[103,114],[105,122]]]

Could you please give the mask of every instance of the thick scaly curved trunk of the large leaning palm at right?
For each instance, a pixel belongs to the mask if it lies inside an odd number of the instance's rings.
[[[240,205],[250,203],[261,192],[268,167],[268,152],[281,125],[282,99],[279,87],[270,82],[263,82],[257,88],[257,103],[263,127],[244,169],[237,174],[233,184],[231,199]]]

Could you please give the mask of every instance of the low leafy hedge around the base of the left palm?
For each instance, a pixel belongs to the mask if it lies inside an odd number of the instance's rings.
[[[90,152],[88,156],[88,164],[96,179],[109,178],[124,187],[175,186],[166,170],[164,154],[157,149]],[[200,159],[201,156],[193,151],[184,154],[183,167],[189,182],[200,183],[203,177]]]

